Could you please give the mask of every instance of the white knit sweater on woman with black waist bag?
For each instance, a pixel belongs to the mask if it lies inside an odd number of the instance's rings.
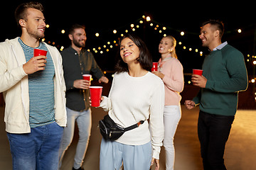
[[[164,83],[159,77],[151,72],[143,77],[130,77],[127,72],[114,74],[109,97],[104,96],[100,107],[122,128],[149,120],[139,128],[124,132],[116,141],[125,145],[144,145],[151,141],[152,157],[159,159],[164,139]]]

